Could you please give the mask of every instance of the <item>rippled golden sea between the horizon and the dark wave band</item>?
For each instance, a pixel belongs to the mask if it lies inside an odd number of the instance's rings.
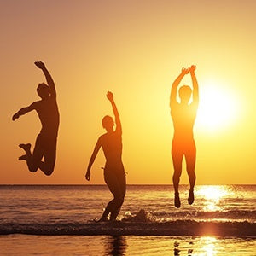
[[[196,186],[195,203],[187,202],[188,186],[180,187],[181,208],[173,206],[167,185],[128,185],[119,218],[140,209],[157,221],[256,221],[256,185]],[[2,185],[0,221],[8,223],[84,223],[100,218],[112,195],[105,185]]]

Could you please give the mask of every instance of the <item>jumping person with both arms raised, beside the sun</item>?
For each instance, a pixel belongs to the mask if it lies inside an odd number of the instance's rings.
[[[179,103],[177,102],[177,87],[184,75],[188,73],[191,75],[193,84],[192,102],[189,102],[192,95],[191,88],[188,85],[183,85],[178,90],[178,96],[180,98]],[[198,102],[198,84],[195,77],[195,65],[193,65],[189,68],[182,69],[182,72],[172,84],[170,96],[171,115],[174,126],[174,135],[172,139],[172,162],[174,174],[172,181],[175,191],[174,204],[177,208],[180,207],[178,183],[182,173],[183,156],[186,160],[190,184],[188,202],[190,205],[194,202],[196,148],[193,136],[193,126],[195,123]]]

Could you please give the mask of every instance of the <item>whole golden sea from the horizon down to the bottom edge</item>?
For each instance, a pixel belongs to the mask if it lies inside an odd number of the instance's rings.
[[[1,185],[0,255],[256,255],[256,185],[128,185],[119,219],[96,223],[106,185]]]

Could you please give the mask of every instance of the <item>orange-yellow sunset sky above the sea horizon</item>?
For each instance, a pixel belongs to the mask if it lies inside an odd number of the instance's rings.
[[[200,105],[195,120],[196,184],[256,183],[256,2],[0,1],[1,184],[89,184],[84,173],[102,117],[123,126],[129,184],[172,183],[169,96],[182,67],[196,65]],[[13,122],[55,80],[61,124],[55,171],[28,172],[19,143],[32,143],[36,113]],[[187,75],[182,84],[191,85]],[[104,183],[102,151],[90,184]],[[181,183],[188,183],[183,162]]]

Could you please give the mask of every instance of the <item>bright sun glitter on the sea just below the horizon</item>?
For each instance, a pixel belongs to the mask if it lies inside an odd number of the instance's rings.
[[[224,186],[201,186],[200,189],[197,190],[197,195],[205,198],[205,206],[203,208],[204,211],[220,211],[221,206],[219,205],[219,201],[230,193],[228,187]]]

